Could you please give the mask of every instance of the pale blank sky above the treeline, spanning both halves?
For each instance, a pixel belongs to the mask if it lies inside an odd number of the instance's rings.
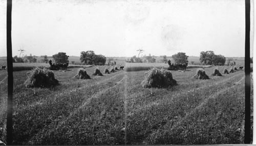
[[[13,0],[12,53],[133,56],[143,49],[143,55],[199,56],[212,50],[243,57],[244,7],[244,0]],[[0,18],[0,56],[6,56],[6,0]]]

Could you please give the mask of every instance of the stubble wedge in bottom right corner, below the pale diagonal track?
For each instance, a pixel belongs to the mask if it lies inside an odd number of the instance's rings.
[[[244,118],[244,84],[234,84],[207,98],[177,122],[155,130],[148,144],[241,143]],[[237,93],[236,91],[242,91]]]

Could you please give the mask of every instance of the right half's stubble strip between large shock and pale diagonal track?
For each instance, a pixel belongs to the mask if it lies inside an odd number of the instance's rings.
[[[150,100],[150,97],[148,96],[136,97],[136,99],[130,98],[129,101],[134,102],[132,104],[135,106],[129,106],[130,122],[127,127],[130,127],[130,135],[136,135],[136,137],[131,137],[131,139],[129,139],[130,142],[132,144],[140,144],[136,142],[141,141],[145,138],[145,135],[150,134],[152,132],[152,128],[158,129],[159,126],[162,126],[161,123],[166,124],[168,121],[177,121],[179,118],[185,116],[186,112],[198,106],[198,104],[204,101],[204,99],[209,97],[212,93],[232,86],[233,83],[240,80],[242,76],[243,73],[240,73],[237,74],[236,77],[230,77],[226,80],[221,80],[218,83],[204,84],[205,86],[201,87],[200,90],[194,89],[191,92],[165,92],[166,95],[159,97],[159,99],[155,100],[154,103],[148,102],[148,100]],[[187,84],[187,86],[188,85],[189,84]],[[133,95],[134,94],[132,93],[131,96]]]

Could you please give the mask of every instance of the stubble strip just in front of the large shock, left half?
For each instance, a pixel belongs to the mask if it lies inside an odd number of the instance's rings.
[[[62,96],[71,96],[75,97],[75,93],[77,92],[84,92],[87,91],[87,94],[91,95],[92,92],[98,92],[98,90],[101,90],[102,88],[112,86],[117,81],[118,78],[120,78],[122,73],[117,73],[113,75],[112,77],[98,77],[97,81],[93,79],[89,80],[78,80],[78,79],[71,79],[69,83],[61,82],[57,85],[56,89],[40,89],[40,88],[25,88],[24,84],[20,84],[19,86],[15,87],[15,91],[19,91],[19,88],[23,89],[26,94],[15,94],[14,95],[14,104],[17,104],[19,108],[22,108],[23,105],[27,105],[28,102],[30,103],[30,106],[33,106],[37,103],[44,103],[47,100],[52,100],[52,98],[56,97],[62,97]],[[65,90],[60,90],[65,89]],[[83,91],[84,90],[84,91]],[[46,96],[46,93],[47,94]],[[25,107],[26,108],[26,107]]]

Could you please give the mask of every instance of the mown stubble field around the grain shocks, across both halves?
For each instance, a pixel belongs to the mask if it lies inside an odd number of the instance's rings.
[[[77,69],[54,71],[60,84],[50,89],[27,89],[28,71],[13,72],[13,144],[243,143],[244,71],[216,77],[213,67],[205,68],[209,80],[192,78],[197,68],[172,71],[176,86],[144,89],[145,71],[99,77],[92,67],[86,69],[92,79],[78,80]],[[0,70],[0,140],[6,135],[6,76]]]

